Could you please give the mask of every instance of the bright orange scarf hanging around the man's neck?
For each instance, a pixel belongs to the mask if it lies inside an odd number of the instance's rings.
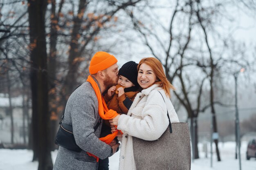
[[[94,91],[96,93],[96,96],[97,96],[97,99],[99,102],[99,108],[98,108],[99,116],[105,120],[113,119],[114,117],[116,117],[118,115],[118,113],[112,109],[108,110],[107,104],[106,104],[105,100],[103,99],[103,97],[101,96],[101,91],[99,90],[99,86],[94,81],[94,79],[92,78],[91,75],[88,76],[87,81],[90,82],[90,84],[92,84],[92,88],[94,89]],[[117,126],[115,126],[115,127],[117,128]],[[121,132],[121,130],[120,130],[120,132]],[[110,144],[111,141],[114,140],[115,137],[117,136],[117,133],[118,133],[118,130],[113,132],[112,134],[107,135],[106,137],[101,137],[99,139],[101,141],[105,142],[106,144]],[[97,162],[99,161],[98,157],[96,157],[95,155],[92,155],[89,152],[87,152],[87,153],[89,156],[96,158]]]

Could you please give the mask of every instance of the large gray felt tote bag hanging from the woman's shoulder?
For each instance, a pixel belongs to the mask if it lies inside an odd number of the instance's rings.
[[[146,141],[132,137],[137,170],[190,170],[189,125],[185,122],[171,124],[169,115],[168,119],[169,126],[159,139]]]

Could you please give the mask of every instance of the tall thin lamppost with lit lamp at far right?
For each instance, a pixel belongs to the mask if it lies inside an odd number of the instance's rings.
[[[237,77],[239,73],[242,73],[245,71],[245,68],[241,68],[240,71],[234,73],[235,78],[235,106],[236,106],[236,159],[237,159],[237,150],[238,150],[238,157],[239,157],[239,170],[241,170],[241,155],[240,155],[240,147],[241,147],[241,141],[240,141],[240,126],[239,126],[239,115],[238,115],[238,106],[237,106]]]

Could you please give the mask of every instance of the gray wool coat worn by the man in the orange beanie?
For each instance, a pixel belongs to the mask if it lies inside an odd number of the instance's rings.
[[[63,123],[73,126],[76,144],[82,151],[74,152],[60,146],[53,170],[97,170],[96,159],[86,152],[105,159],[110,155],[111,147],[99,140],[102,123],[94,132],[100,116],[98,100],[89,82],[83,83],[70,95],[64,115]]]

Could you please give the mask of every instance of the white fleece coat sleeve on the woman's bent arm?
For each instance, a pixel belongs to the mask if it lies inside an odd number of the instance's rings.
[[[158,139],[169,124],[167,108],[162,96],[158,91],[152,91],[148,95],[144,108],[139,107],[132,109],[131,113],[140,110],[142,118],[121,115],[117,129],[128,135],[148,141]],[[136,115],[136,113],[132,114]]]

